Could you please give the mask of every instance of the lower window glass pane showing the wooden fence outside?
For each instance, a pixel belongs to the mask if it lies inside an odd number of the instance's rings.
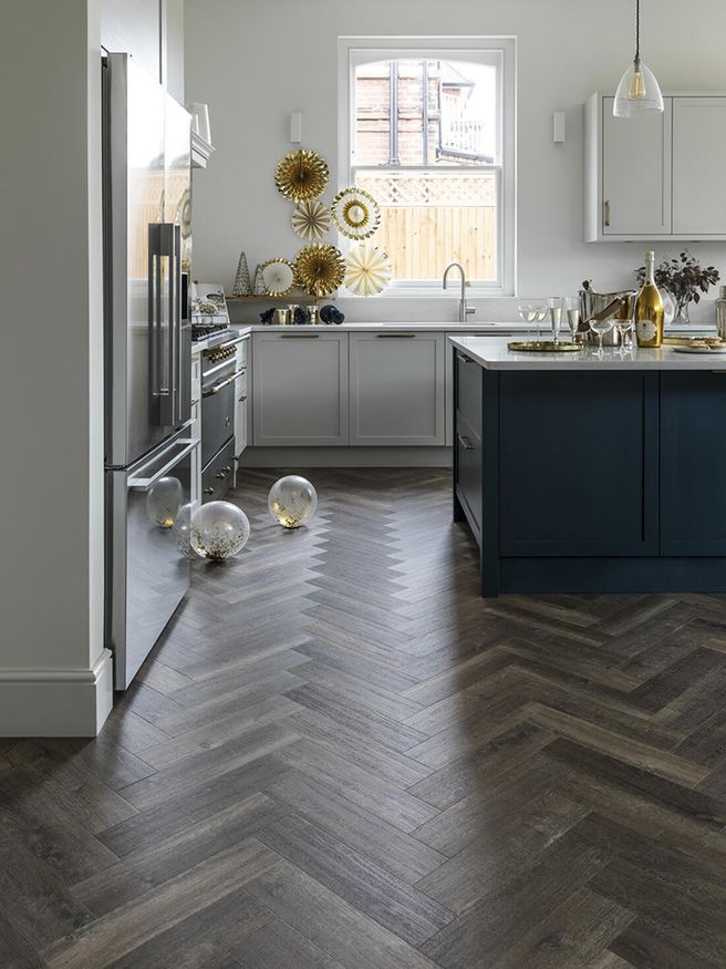
[[[460,262],[467,279],[497,279],[497,172],[357,171],[355,184],[381,206],[376,245],[393,278],[440,280]]]

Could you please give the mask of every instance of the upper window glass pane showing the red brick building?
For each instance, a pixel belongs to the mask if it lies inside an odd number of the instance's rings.
[[[395,60],[355,71],[356,165],[481,165],[497,159],[497,70]]]

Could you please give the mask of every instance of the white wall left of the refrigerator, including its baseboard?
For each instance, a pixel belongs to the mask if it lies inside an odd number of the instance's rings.
[[[0,735],[93,734],[103,648],[98,0],[4,0]]]

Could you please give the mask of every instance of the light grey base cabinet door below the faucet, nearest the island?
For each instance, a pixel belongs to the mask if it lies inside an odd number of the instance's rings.
[[[351,444],[443,445],[443,333],[351,334]]]

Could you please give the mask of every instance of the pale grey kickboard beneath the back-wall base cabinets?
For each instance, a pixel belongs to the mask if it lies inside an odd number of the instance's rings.
[[[240,467],[450,467],[450,447],[247,447]]]

